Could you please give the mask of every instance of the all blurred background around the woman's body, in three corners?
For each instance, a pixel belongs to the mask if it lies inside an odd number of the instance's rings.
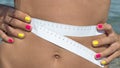
[[[14,6],[13,0],[0,0],[0,4]],[[107,22],[113,26],[117,33],[120,34],[120,0],[111,0],[110,12]],[[120,58],[112,61],[109,68],[120,68]]]

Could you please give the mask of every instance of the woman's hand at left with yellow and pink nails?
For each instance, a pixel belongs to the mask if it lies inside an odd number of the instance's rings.
[[[13,43],[13,37],[24,38],[25,35],[19,29],[31,31],[31,18],[26,13],[9,6],[0,5],[0,37],[9,43]]]

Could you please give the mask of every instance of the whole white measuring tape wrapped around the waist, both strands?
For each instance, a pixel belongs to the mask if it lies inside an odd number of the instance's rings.
[[[31,25],[32,32],[37,36],[54,43],[57,46],[62,47],[78,56],[81,56],[100,67],[104,67],[100,64],[101,60],[96,60],[94,58],[94,55],[96,54],[94,51],[70,38],[65,37],[84,37],[103,34],[104,31],[98,32],[96,26],[72,26],[35,18],[32,19]]]

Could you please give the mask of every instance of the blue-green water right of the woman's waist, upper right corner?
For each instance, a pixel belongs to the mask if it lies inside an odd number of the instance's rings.
[[[120,34],[120,0],[111,0],[108,23]]]

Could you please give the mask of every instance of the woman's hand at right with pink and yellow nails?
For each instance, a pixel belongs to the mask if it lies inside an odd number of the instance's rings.
[[[116,34],[110,24],[98,24],[98,30],[104,30],[107,37],[96,39],[92,42],[94,47],[108,46],[109,47],[101,53],[95,55],[96,59],[106,57],[101,61],[102,65],[110,63],[113,59],[120,56],[120,35]]]

